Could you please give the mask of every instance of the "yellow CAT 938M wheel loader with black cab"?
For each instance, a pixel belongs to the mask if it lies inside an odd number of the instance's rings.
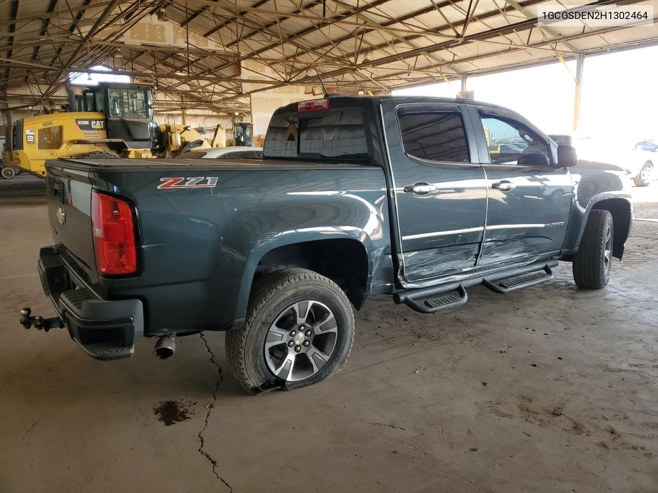
[[[45,177],[48,159],[170,157],[190,149],[224,147],[221,126],[208,140],[200,129],[169,119],[156,124],[153,85],[101,82],[78,97],[67,89],[65,112],[23,118],[11,125],[3,152],[6,166]]]

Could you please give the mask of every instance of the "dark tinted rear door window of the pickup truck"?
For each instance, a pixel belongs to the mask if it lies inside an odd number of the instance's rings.
[[[405,153],[430,161],[470,160],[459,112],[399,112],[397,118]]]

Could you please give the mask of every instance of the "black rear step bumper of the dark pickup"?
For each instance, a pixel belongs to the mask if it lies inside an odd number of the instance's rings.
[[[141,300],[103,300],[66,267],[57,247],[39,251],[43,291],[71,339],[96,360],[118,360],[134,353],[144,332]]]

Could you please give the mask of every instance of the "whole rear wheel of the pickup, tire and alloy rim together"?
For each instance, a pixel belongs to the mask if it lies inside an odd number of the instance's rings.
[[[336,283],[306,269],[276,271],[254,287],[243,327],[226,333],[226,359],[250,394],[306,387],[343,368],[354,326]]]

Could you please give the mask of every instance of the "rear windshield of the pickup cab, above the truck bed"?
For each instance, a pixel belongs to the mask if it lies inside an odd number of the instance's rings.
[[[268,158],[367,158],[363,113],[344,109],[275,114],[263,154]]]

